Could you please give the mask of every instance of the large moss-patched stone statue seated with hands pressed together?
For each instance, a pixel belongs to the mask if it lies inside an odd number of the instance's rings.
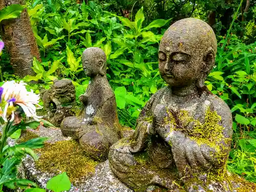
[[[135,191],[231,191],[231,112],[204,86],[216,52],[215,33],[200,19],[179,20],[164,33],[159,71],[168,86],[146,103],[133,136],[109,153],[115,175]]]

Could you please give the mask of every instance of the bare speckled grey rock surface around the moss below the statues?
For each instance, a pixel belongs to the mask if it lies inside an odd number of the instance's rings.
[[[70,140],[70,137],[63,137],[60,129],[54,127],[40,126],[37,130],[29,130],[41,137],[49,137],[49,143],[57,141]],[[9,140],[9,144],[13,145],[14,140]],[[68,153],[68,152],[67,152]],[[40,157],[40,154],[38,154]],[[50,161],[50,160],[49,160]],[[18,168],[19,178],[27,178],[36,182],[41,188],[46,188],[46,184],[54,174],[41,172],[36,168],[34,160],[27,156]],[[73,185],[70,192],[132,192],[133,190],[125,186],[116,176],[112,173],[109,167],[109,161],[99,163],[95,168],[95,173],[82,179],[79,184]]]

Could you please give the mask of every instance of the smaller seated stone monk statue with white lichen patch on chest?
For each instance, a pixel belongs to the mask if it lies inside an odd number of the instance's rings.
[[[78,117],[61,122],[64,136],[79,140],[82,149],[96,160],[108,158],[109,147],[121,138],[116,99],[106,79],[106,55],[100,48],[88,48],[82,53],[82,65],[91,82],[80,96],[84,110]]]

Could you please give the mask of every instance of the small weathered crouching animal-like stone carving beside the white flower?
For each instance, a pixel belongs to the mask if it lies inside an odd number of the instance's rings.
[[[55,126],[60,126],[65,117],[75,115],[75,87],[71,80],[54,80],[53,86],[42,96],[46,118]]]

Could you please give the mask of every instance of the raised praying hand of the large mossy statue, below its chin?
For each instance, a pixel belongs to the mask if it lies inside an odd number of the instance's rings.
[[[176,128],[172,112],[168,111],[165,105],[157,104],[153,113],[153,123],[155,131],[168,142]]]

